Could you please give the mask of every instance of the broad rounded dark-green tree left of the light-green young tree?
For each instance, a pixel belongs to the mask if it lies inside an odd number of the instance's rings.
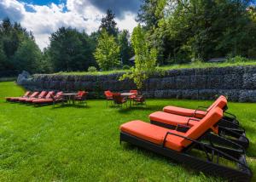
[[[95,65],[90,37],[73,28],[61,27],[49,38],[49,57],[54,71],[84,71]]]

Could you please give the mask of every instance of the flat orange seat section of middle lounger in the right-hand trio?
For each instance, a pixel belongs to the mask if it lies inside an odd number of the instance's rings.
[[[187,123],[189,122],[189,126],[194,126],[195,122],[197,121],[189,121],[189,118],[199,120],[195,117],[183,117],[180,115],[170,114],[163,111],[156,111],[149,115],[150,121],[154,122],[162,122],[173,126],[177,126],[177,124],[187,125]]]

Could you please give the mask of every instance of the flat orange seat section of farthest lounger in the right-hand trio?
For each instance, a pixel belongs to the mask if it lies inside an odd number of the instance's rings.
[[[207,114],[207,111],[196,111],[195,113],[195,110],[171,106],[171,105],[164,107],[163,111],[171,114],[175,114],[175,115],[181,115],[184,117],[193,117],[195,114],[195,117],[197,118],[202,118]]]

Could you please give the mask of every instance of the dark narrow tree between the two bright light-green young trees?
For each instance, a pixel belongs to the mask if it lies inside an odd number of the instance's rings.
[[[119,32],[119,47],[120,47],[120,57],[123,65],[130,65],[129,59],[132,56],[131,43],[129,43],[130,35],[129,31],[124,30]]]

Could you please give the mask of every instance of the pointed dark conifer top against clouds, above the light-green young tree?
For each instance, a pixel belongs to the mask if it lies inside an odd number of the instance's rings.
[[[100,26],[100,31],[106,30],[109,35],[116,37],[118,34],[118,28],[116,27],[116,22],[114,21],[115,14],[112,10],[108,9],[107,14],[102,18],[102,24]]]

